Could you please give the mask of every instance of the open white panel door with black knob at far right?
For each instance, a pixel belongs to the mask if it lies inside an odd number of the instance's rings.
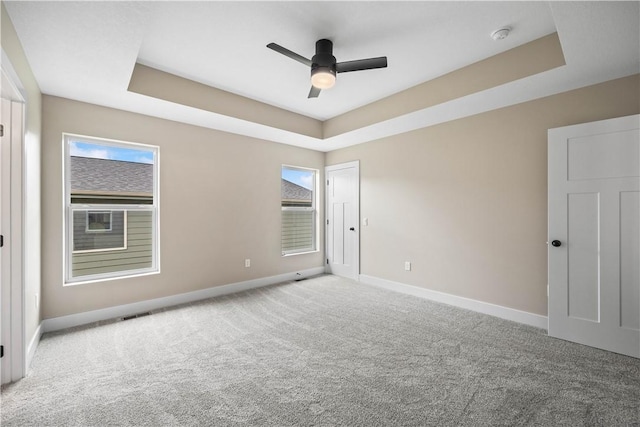
[[[640,116],[549,130],[549,335],[640,357]]]

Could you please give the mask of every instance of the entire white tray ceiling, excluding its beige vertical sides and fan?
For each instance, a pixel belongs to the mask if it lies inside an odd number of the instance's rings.
[[[639,2],[6,1],[43,93],[321,151],[640,72]],[[510,36],[493,41],[502,26]],[[326,120],[557,31],[567,65],[468,97],[316,139],[127,91],[136,62]],[[389,67],[338,75],[307,99],[302,56]]]

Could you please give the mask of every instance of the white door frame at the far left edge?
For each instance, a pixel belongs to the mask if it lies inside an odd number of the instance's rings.
[[[0,374],[4,382],[13,382],[26,374],[27,354],[24,319],[24,254],[23,254],[23,147],[25,138],[25,96],[20,79],[2,51],[0,66],[2,78],[1,97],[10,101],[10,126],[5,124],[5,144],[2,150],[2,188],[0,189],[0,209],[2,210],[2,234],[4,247],[0,255],[1,278],[0,307],[5,322],[0,325],[0,336],[4,345],[4,358],[0,367],[10,372]],[[3,121],[6,119],[3,117]],[[7,283],[8,282],[8,283]],[[4,294],[5,298],[2,299]],[[8,300],[7,300],[8,299]],[[0,317],[1,318],[1,317]],[[0,368],[1,369],[1,368]],[[0,381],[2,382],[2,381]]]

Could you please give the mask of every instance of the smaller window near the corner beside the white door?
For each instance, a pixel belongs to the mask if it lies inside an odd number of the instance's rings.
[[[282,166],[282,255],[317,250],[318,171]]]

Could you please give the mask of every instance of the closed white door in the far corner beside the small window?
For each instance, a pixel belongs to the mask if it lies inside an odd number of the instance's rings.
[[[358,280],[360,274],[360,163],[325,168],[327,271]]]

